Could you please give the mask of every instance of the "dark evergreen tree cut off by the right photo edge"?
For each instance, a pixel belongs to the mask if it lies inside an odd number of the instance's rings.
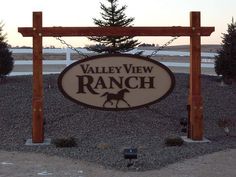
[[[215,72],[224,80],[236,79],[236,23],[233,19],[222,39],[221,49],[215,57]]]

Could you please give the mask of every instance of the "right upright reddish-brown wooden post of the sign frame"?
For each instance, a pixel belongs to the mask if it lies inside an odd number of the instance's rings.
[[[203,139],[203,107],[201,96],[201,34],[200,12],[190,13],[190,122],[188,138],[192,140]]]

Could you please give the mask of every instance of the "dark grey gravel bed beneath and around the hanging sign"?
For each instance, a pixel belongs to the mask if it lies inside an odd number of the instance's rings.
[[[179,121],[187,117],[188,75],[175,77],[175,89],[165,100],[149,108],[106,112],[70,102],[58,91],[57,75],[44,76],[45,137],[74,137],[78,145],[72,148],[24,145],[31,138],[32,77],[9,77],[7,83],[0,85],[0,149],[41,152],[94,162],[105,168],[144,171],[236,148],[236,84],[220,86],[214,76],[202,76],[204,135],[211,143],[165,146],[166,137],[185,135]],[[222,118],[232,122],[230,136],[218,126]],[[129,168],[123,158],[126,147],[138,148],[138,159]]]

